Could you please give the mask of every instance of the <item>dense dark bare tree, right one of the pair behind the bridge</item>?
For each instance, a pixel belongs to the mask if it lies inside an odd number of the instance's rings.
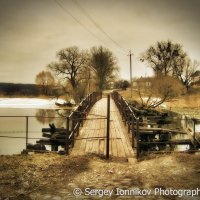
[[[95,69],[100,90],[106,88],[110,81],[113,81],[118,67],[113,53],[102,46],[91,49],[91,66]]]

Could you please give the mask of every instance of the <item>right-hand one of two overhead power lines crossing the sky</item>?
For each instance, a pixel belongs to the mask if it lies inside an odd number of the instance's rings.
[[[96,26],[96,28],[98,28],[104,35],[106,35],[107,38],[109,38],[116,46],[118,46],[118,48],[120,48],[122,51],[126,52],[124,50],[124,48],[118,42],[113,40],[112,37],[107,32],[105,32],[99,24],[96,23],[96,21],[86,12],[86,10],[76,0],[72,0],[72,1],[85,14],[85,16]]]

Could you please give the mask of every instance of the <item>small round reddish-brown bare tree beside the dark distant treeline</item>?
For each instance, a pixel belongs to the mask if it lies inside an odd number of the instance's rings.
[[[50,89],[55,85],[55,79],[51,72],[42,71],[35,78],[36,84],[41,88],[42,93],[49,94]]]

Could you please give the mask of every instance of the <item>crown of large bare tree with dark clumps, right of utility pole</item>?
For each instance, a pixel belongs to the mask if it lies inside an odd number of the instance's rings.
[[[155,75],[174,76],[187,90],[191,84],[191,76],[198,66],[196,61],[191,61],[180,44],[171,41],[161,41],[150,46],[140,59],[150,65]]]

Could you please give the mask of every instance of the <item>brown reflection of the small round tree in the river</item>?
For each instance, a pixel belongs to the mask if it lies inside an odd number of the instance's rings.
[[[35,113],[37,121],[42,123],[42,124],[53,122],[55,115],[56,114],[55,114],[54,110],[39,109]]]

